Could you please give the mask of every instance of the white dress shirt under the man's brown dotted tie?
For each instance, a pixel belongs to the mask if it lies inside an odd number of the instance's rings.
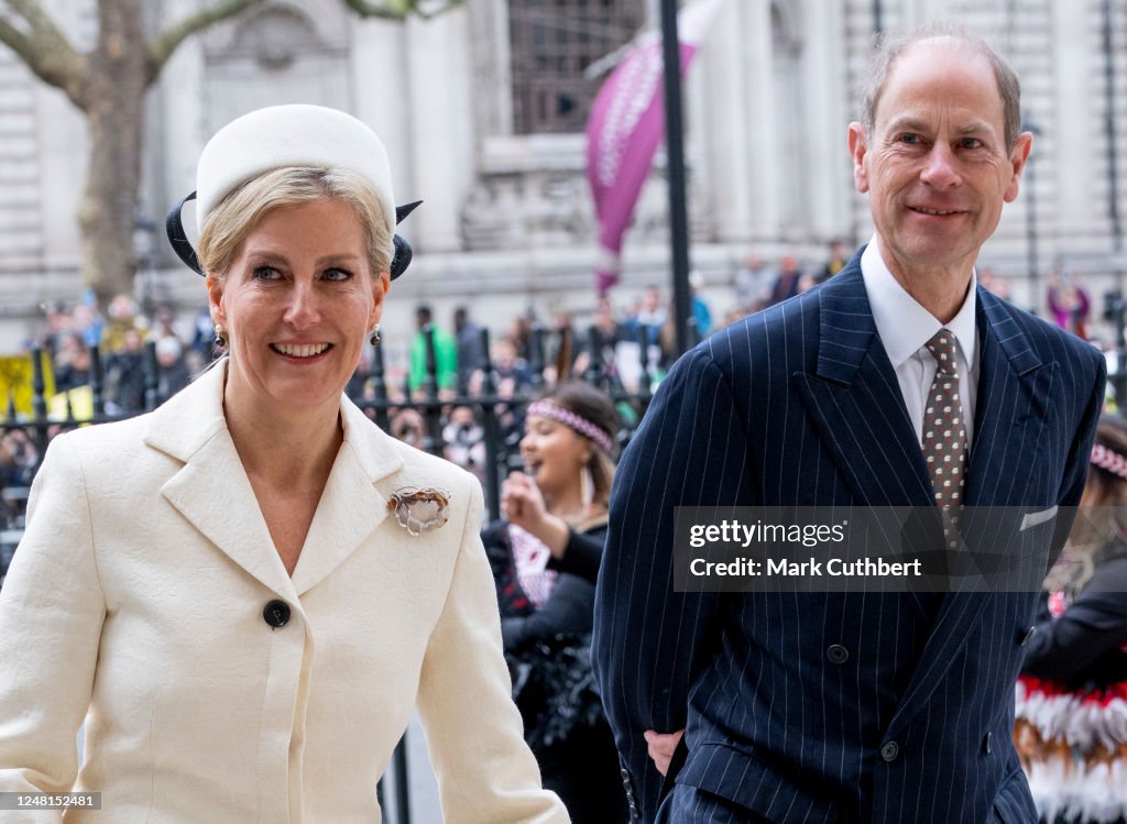
[[[916,438],[923,445],[923,410],[928,405],[931,382],[939,365],[928,352],[925,344],[942,328],[955,334],[958,351],[959,402],[967,431],[967,449],[974,437],[975,400],[978,396],[978,335],[975,329],[975,285],[977,275],[970,274],[970,289],[962,301],[962,308],[949,324],[941,324],[931,312],[920,305],[899,284],[880,254],[876,236],[861,255],[861,275],[864,290],[869,293],[869,305],[877,334],[885,345],[888,360],[896,371],[908,418],[915,428]]]

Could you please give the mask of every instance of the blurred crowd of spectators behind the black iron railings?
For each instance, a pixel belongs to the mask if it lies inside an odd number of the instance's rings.
[[[696,272],[690,276],[695,337],[806,292],[840,272],[850,256],[849,247],[834,240],[824,259],[801,262],[783,252],[774,262],[749,254],[731,276],[734,298],[713,312],[706,298],[706,283]],[[982,285],[1009,296],[1009,281],[988,267],[978,273]],[[712,294],[722,294],[720,289]],[[1054,273],[1046,293],[1048,317],[1084,334],[1090,299],[1082,283],[1065,273]],[[525,313],[508,327],[494,330],[488,357],[481,335],[482,324],[467,307],[458,307],[450,320],[436,318],[432,308],[416,308],[416,333],[407,342],[383,343],[385,354],[383,389],[393,404],[390,431],[415,445],[424,445],[426,420],[414,406],[431,391],[428,369],[434,369],[437,397],[445,401],[440,432],[447,457],[479,477],[483,473],[485,437],[480,404],[455,406],[456,398],[499,400],[497,415],[502,449],[515,451],[523,427],[523,404],[543,386],[570,376],[597,375],[606,389],[621,393],[653,390],[676,358],[673,310],[666,291],[647,287],[630,305],[610,298],[594,300],[589,312],[557,312],[551,319]],[[207,310],[190,318],[177,317],[168,307],[157,307],[148,316],[126,294],[117,295],[103,313],[92,299],[74,305],[45,307],[44,330],[35,345],[47,353],[48,413],[56,419],[72,416],[81,420],[92,408],[90,378],[92,347],[101,357],[101,391],[109,415],[128,415],[147,408],[145,344],[153,343],[157,371],[156,400],[162,401],[185,387],[216,354]],[[427,336],[434,345],[428,366]],[[378,400],[373,373],[373,351],[364,353],[348,393],[357,401]],[[488,375],[487,375],[488,372]],[[487,378],[489,380],[487,380]],[[512,404],[505,402],[512,400]],[[0,485],[18,486],[37,463],[33,440],[19,429],[0,429]]]

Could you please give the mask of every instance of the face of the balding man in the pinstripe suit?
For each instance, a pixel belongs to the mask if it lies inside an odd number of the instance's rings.
[[[872,134],[850,125],[859,192],[869,193],[886,263],[900,278],[969,275],[1002,203],[1018,196],[1032,135],[1005,147],[1002,98],[988,61],[937,37],[889,73]]]

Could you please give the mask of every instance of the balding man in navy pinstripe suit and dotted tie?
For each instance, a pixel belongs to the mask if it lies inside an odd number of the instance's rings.
[[[1102,358],[974,275],[1030,149],[1018,80],[932,28],[882,46],[864,108],[849,144],[872,241],[681,358],[619,468],[594,657],[647,822],[1037,819],[1011,738],[1035,593],[673,587],[675,506],[1020,507],[1046,558],[1067,532]],[[924,426],[935,391],[960,427],[953,502]],[[682,729],[663,791],[647,738],[671,738],[648,730]]]

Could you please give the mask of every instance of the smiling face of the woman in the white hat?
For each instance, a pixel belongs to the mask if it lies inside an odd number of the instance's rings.
[[[225,276],[208,277],[231,354],[229,397],[337,407],[389,285],[387,272],[371,272],[365,239],[341,201],[283,206],[251,230]]]

